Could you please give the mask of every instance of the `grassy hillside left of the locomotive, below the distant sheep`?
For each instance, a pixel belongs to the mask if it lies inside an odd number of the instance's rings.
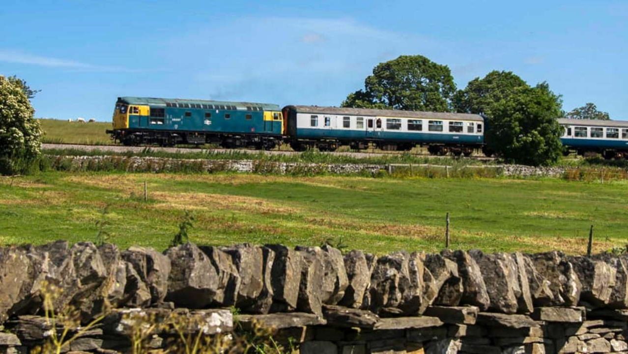
[[[111,123],[78,123],[58,119],[38,119],[44,131],[43,143],[73,143],[90,145],[111,145],[113,141],[105,133]]]

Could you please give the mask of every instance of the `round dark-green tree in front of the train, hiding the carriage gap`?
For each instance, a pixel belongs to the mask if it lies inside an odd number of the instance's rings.
[[[517,87],[492,104],[487,143],[506,162],[551,165],[560,158],[561,98],[545,82],[536,87]]]

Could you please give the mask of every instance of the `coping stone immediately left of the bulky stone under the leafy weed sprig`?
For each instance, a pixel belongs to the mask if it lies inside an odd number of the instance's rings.
[[[131,246],[122,252],[122,259],[133,265],[139,278],[148,287],[151,293],[151,303],[156,304],[165,299],[171,269],[168,257],[152,248]]]

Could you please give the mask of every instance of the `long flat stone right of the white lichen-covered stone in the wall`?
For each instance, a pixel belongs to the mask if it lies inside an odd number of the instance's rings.
[[[327,324],[325,319],[309,313],[240,314],[237,316],[237,321],[239,321],[244,328],[251,328],[253,323],[274,329],[322,326]]]

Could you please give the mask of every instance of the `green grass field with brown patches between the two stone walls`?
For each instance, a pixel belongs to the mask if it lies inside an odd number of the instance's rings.
[[[114,243],[163,249],[188,210],[202,244],[342,238],[369,252],[434,252],[450,212],[452,248],[582,253],[590,224],[595,250],[628,243],[627,197],[622,182],[46,172],[0,180],[0,243],[93,241],[106,220]]]

